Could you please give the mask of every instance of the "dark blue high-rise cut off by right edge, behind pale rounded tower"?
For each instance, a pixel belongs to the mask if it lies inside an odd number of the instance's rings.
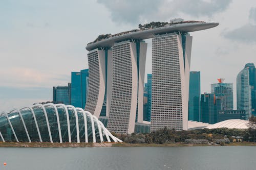
[[[245,64],[249,70],[249,84],[251,86],[251,113],[256,116],[256,69],[253,63]]]

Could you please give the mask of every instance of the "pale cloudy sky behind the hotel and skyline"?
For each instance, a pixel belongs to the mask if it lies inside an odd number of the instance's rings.
[[[99,34],[174,18],[220,22],[190,33],[190,70],[201,71],[201,93],[218,78],[233,83],[236,108],[236,77],[246,63],[256,64],[255,0],[2,0],[0,112],[52,101],[53,86],[88,68],[85,47]],[[151,74],[152,40],[146,42]]]

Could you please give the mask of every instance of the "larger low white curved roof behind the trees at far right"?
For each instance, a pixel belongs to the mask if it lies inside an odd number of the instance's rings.
[[[248,129],[247,124],[249,123],[248,120],[241,120],[241,119],[229,119],[224,120],[222,122],[209,125],[205,128],[207,129],[216,129],[216,128],[228,128],[228,129]]]

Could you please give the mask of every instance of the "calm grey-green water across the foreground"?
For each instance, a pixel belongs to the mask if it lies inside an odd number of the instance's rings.
[[[246,170],[255,158],[256,147],[0,148],[0,170]]]

